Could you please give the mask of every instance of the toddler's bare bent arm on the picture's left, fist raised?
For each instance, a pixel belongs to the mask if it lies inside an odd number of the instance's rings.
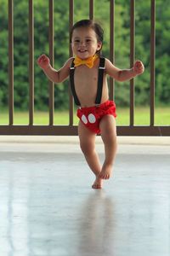
[[[54,83],[61,83],[68,78],[70,73],[72,58],[65,62],[65,65],[59,70],[55,70],[50,65],[50,61],[47,55],[41,55],[37,59],[37,64],[42,68],[49,80]]]

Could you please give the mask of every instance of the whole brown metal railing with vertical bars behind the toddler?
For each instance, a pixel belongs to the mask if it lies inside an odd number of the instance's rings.
[[[130,1],[130,66],[134,61],[135,0]],[[8,0],[8,125],[0,125],[0,135],[77,135],[73,125],[74,104],[70,91],[69,125],[54,125],[54,84],[49,86],[49,125],[34,125],[34,9],[29,0],[29,124],[14,125],[14,17],[13,0]],[[74,20],[74,0],[69,1],[70,29]],[[115,60],[114,49],[115,1],[110,0],[110,60]],[[134,82],[130,81],[129,125],[117,126],[121,136],[169,136],[170,126],[155,125],[155,50],[156,50],[156,0],[150,0],[150,125],[134,125]],[[54,64],[54,0],[48,0],[49,58]],[[89,0],[89,18],[94,19],[94,0]],[[71,48],[70,48],[71,55]],[[110,79],[110,97],[113,98],[115,82]]]

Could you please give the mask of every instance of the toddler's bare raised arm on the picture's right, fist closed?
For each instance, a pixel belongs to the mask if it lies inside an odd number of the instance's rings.
[[[127,81],[135,76],[144,73],[144,65],[141,61],[136,61],[130,69],[119,69],[111,61],[105,60],[105,71],[117,81]]]

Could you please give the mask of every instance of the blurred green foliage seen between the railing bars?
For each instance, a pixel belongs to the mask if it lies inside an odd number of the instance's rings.
[[[37,66],[37,57],[48,55],[48,1],[34,0],[35,108],[48,108],[48,79]],[[88,0],[74,1],[74,21],[88,19]],[[26,110],[29,104],[29,21],[28,1],[14,0],[14,107]],[[94,1],[95,20],[103,26],[103,55],[110,57],[110,1]],[[170,4],[156,0],[156,104],[167,105],[170,98]],[[150,1],[135,4],[135,59],[144,62],[145,72],[135,79],[135,104],[150,103]],[[59,69],[69,57],[69,1],[54,1],[54,67]],[[130,0],[115,1],[115,60],[129,68]],[[0,106],[8,105],[8,1],[0,1]],[[69,82],[54,87],[57,109],[68,108]],[[115,86],[116,104],[129,105],[129,82]]]

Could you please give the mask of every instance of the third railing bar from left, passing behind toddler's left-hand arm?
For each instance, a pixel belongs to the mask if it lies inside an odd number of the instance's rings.
[[[49,0],[48,6],[49,19],[49,60],[54,66],[54,0]],[[49,81],[49,125],[54,125],[54,83]]]

